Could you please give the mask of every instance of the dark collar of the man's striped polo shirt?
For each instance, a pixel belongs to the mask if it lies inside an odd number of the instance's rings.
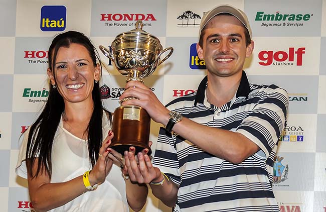
[[[198,86],[196,99],[195,99],[195,106],[197,106],[198,102],[204,103],[206,86],[207,86],[207,75],[204,77],[204,79],[200,82]],[[242,71],[241,80],[236,93],[236,97],[240,97],[240,96],[248,97],[249,93],[250,93],[249,81],[245,71]]]

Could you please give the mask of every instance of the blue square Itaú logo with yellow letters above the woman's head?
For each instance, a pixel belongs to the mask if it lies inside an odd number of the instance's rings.
[[[65,6],[43,6],[41,8],[41,30],[44,32],[64,31],[66,16]]]

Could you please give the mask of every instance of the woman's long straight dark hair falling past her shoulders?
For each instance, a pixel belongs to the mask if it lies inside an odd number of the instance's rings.
[[[54,65],[56,63],[57,53],[60,47],[68,48],[71,44],[81,44],[89,52],[92,58],[93,65],[96,66],[96,62],[100,63],[98,52],[95,49],[92,42],[83,33],[68,31],[57,35],[49,48],[49,68],[53,72],[54,79]],[[102,70],[102,65],[100,63]],[[43,172],[43,168],[51,177],[52,174],[52,145],[55,133],[60,123],[61,115],[64,112],[65,104],[64,99],[58,92],[58,89],[53,88],[51,81],[49,82],[50,91],[47,102],[44,109],[38,119],[30,127],[28,136],[27,151],[26,151],[26,163],[27,168],[32,177],[38,176],[40,172]],[[103,110],[108,114],[109,121],[112,122],[111,114],[102,107],[101,94],[99,83],[94,83],[92,90],[92,98],[94,102],[94,109],[92,117],[89,121],[88,127],[85,131],[85,135],[88,138],[88,154],[90,163],[95,165],[98,159],[98,152],[102,145],[102,116]],[[35,175],[32,173],[32,167],[35,159],[38,158],[38,167]]]

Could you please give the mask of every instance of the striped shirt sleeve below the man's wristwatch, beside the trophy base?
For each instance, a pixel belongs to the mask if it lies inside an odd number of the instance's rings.
[[[164,172],[174,183],[180,185],[180,171],[177,150],[175,148],[176,135],[160,128],[157,146],[153,158],[153,166]]]

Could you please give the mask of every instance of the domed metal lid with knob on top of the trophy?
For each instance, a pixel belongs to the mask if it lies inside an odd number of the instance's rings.
[[[147,33],[142,29],[143,23],[141,20],[138,20],[135,23],[135,29],[120,33],[116,36],[116,38],[112,42],[112,47],[123,42],[148,42],[152,43],[152,45],[159,45],[162,49],[158,38]]]

